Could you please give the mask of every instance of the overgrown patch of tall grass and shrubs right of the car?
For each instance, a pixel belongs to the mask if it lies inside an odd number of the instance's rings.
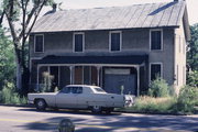
[[[198,106],[197,87],[185,86],[178,96],[174,96],[173,89],[166,81],[156,78],[151,82],[148,96],[138,97],[132,107],[118,109],[118,111],[191,114],[196,112],[196,106]]]

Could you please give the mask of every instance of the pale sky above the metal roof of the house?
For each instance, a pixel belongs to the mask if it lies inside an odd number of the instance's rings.
[[[62,2],[61,8],[66,9],[87,9],[103,7],[121,7],[141,3],[170,2],[173,0],[54,0]],[[198,23],[198,0],[186,0],[189,16],[189,24]],[[44,11],[50,10],[45,9]]]

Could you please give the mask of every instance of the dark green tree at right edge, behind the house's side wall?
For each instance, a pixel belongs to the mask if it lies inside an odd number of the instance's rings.
[[[191,41],[187,52],[187,63],[193,70],[198,70],[198,24],[190,26]]]

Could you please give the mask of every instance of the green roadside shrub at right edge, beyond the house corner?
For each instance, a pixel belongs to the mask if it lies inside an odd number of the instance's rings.
[[[198,88],[185,86],[180,89],[177,99],[177,111],[182,113],[193,113],[195,106],[198,103]]]

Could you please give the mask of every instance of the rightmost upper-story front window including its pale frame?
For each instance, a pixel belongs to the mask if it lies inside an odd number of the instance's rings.
[[[150,43],[151,43],[151,50],[163,50],[163,31],[151,30]]]

